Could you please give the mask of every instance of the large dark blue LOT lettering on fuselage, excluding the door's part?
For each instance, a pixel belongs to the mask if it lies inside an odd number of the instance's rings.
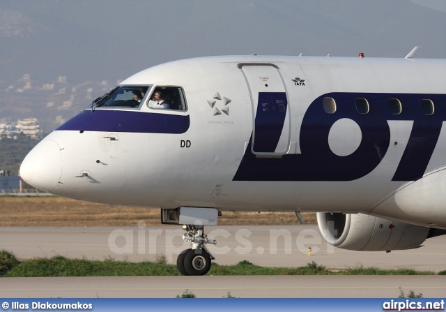
[[[337,111],[334,114],[324,112],[322,102],[325,97],[334,98],[336,101]],[[367,98],[370,105],[368,114],[359,114],[356,111],[357,98]],[[388,106],[390,98],[401,101],[401,114],[390,112]],[[424,99],[433,101],[435,112],[432,115],[423,114],[421,101]],[[413,121],[413,128],[392,181],[415,181],[423,176],[436,147],[443,121],[446,121],[445,103],[445,94],[343,92],[323,94],[309,105],[303,117],[299,138],[301,154],[286,154],[282,158],[257,158],[250,148],[252,140],[249,140],[249,147],[245,151],[233,180],[353,181],[360,179],[372,172],[383,160],[390,145],[390,128],[387,121],[395,120]],[[290,105],[293,106],[293,103]],[[343,118],[351,119],[360,126],[362,140],[353,154],[337,156],[330,149],[328,135],[333,124]]]

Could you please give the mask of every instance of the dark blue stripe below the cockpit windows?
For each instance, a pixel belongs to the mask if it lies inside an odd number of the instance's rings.
[[[180,134],[185,133],[189,126],[189,115],[84,110],[56,130]]]

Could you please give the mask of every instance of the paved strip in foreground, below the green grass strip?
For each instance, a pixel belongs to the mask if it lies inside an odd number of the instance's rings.
[[[445,276],[124,276],[1,278],[0,297],[445,297]]]

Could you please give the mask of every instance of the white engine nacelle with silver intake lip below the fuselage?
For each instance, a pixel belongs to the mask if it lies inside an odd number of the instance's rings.
[[[420,248],[426,238],[436,236],[432,235],[436,229],[367,214],[318,212],[317,219],[319,230],[329,244],[352,251]]]

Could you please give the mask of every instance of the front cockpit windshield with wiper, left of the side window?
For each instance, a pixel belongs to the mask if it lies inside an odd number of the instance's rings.
[[[93,107],[139,107],[148,86],[118,86],[96,98]]]

